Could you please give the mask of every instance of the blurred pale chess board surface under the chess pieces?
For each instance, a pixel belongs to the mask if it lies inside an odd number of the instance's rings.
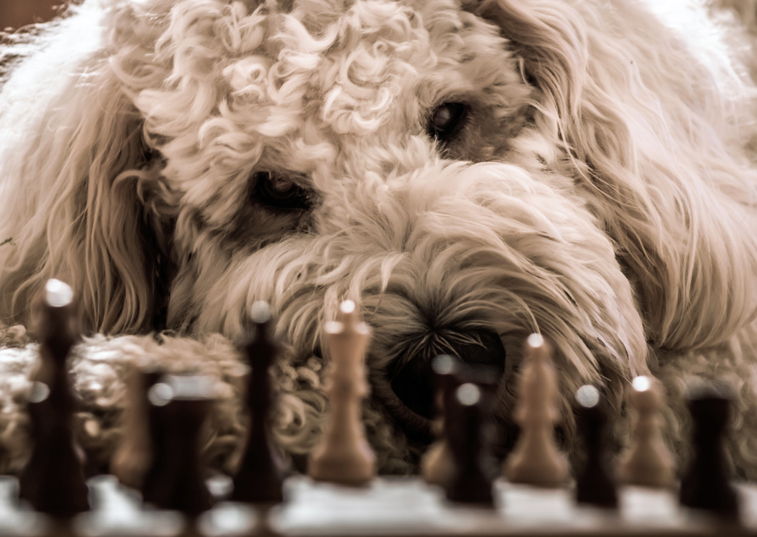
[[[209,482],[223,495],[226,478]],[[220,501],[194,523],[176,512],[146,508],[138,494],[112,476],[89,481],[92,511],[63,528],[14,501],[17,483],[0,479],[0,535],[131,537],[204,535],[282,536],[707,536],[757,535],[757,486],[737,485],[741,524],[682,509],[672,491],[620,489],[617,511],[579,507],[572,491],[538,489],[499,481],[496,508],[452,505],[441,489],[417,478],[380,478],[366,487],[289,478],[285,503],[268,509]]]

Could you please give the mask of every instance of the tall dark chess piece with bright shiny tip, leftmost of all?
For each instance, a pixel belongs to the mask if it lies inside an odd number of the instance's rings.
[[[73,292],[50,280],[42,304],[40,361],[31,376],[27,403],[32,453],[19,477],[19,495],[32,507],[55,518],[70,518],[89,509],[84,452],[73,432],[78,399],[67,359],[78,341]]]

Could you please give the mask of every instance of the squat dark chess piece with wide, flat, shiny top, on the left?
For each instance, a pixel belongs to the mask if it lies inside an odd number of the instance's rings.
[[[150,388],[148,419],[152,460],[142,499],[198,516],[212,507],[200,442],[213,401],[212,381],[201,375],[166,375]]]

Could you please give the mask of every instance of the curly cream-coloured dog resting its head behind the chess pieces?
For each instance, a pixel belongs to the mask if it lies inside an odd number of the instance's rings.
[[[685,460],[687,386],[717,379],[735,394],[730,461],[756,478],[757,70],[734,13],[84,0],[6,35],[0,469],[25,461],[32,305],[59,278],[86,334],[77,430],[101,464],[149,356],[220,379],[206,451],[233,465],[236,342],[264,300],[283,342],[274,436],[301,466],[328,411],[321,327],[351,299],[373,330],[364,421],[382,472],[417,466],[440,353],[493,372],[506,448],[539,332],[567,451],[579,386],[602,386],[620,449],[630,381],[651,375]]]

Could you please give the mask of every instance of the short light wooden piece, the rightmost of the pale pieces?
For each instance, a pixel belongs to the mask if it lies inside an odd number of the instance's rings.
[[[672,487],[675,483],[673,456],[662,440],[661,387],[650,377],[633,379],[629,402],[634,412],[633,440],[618,466],[623,483],[646,487]]]

